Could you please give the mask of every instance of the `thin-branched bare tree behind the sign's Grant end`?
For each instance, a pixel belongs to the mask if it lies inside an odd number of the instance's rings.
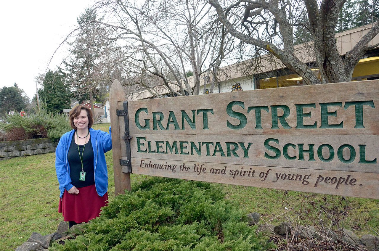
[[[108,22],[98,23],[113,29],[108,39],[116,41],[118,52],[113,55],[125,82],[156,97],[199,94],[202,74],[217,69],[231,51],[223,46],[230,48],[233,42],[212,19],[205,0],[103,0],[97,7],[111,13]],[[193,78],[187,77],[188,69]]]

